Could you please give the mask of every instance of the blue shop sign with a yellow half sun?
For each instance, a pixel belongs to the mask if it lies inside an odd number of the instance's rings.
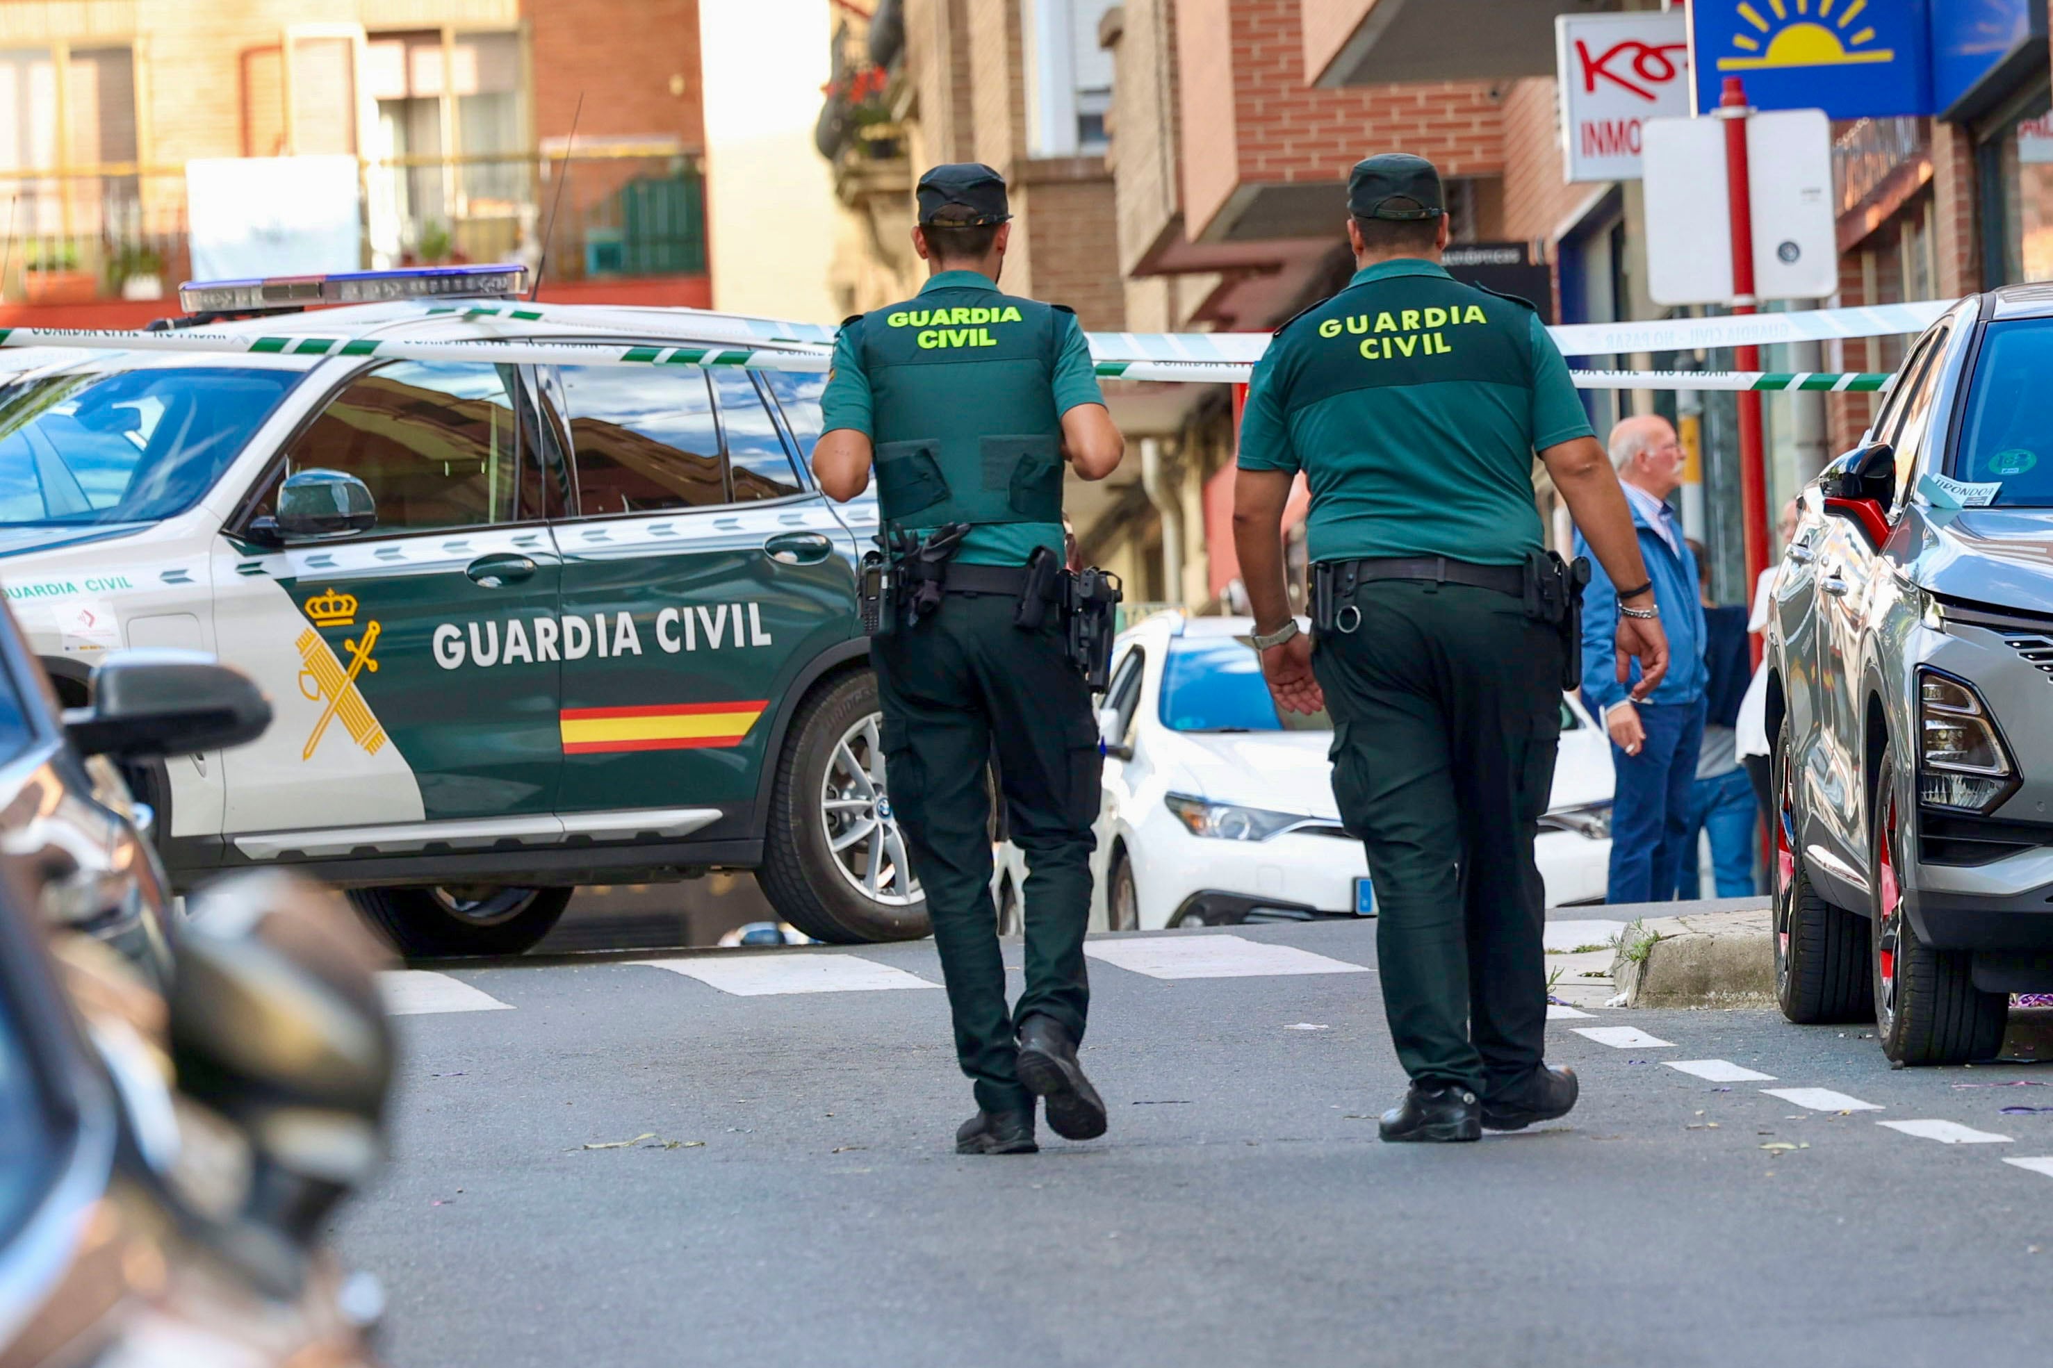
[[[1924,115],[1932,105],[1930,0],[1694,0],[1698,111],[1727,78],[1755,109],[1833,119]]]

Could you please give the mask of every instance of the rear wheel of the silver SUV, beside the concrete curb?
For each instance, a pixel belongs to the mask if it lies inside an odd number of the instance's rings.
[[[1805,1025],[1862,1021],[1874,1011],[1868,980],[1868,921],[1833,907],[1811,884],[1796,839],[1796,786],[1790,775],[1790,724],[1776,736],[1770,792],[1774,829],[1774,972],[1782,1015]]]

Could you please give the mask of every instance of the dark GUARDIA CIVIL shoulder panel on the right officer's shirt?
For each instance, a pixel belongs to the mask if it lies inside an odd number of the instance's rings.
[[[1289,412],[1386,386],[1482,381],[1532,388],[1534,306],[1437,275],[1349,285],[1287,332]]]

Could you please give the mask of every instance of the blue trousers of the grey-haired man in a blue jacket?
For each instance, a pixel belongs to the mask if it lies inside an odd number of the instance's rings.
[[[1690,790],[1704,742],[1704,699],[1636,703],[1638,755],[1612,747],[1612,886],[1605,902],[1671,902],[1690,835]]]

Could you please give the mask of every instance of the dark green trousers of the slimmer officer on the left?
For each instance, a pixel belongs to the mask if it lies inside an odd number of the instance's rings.
[[[955,1054],[985,1112],[1033,1105],[1014,1073],[1014,1021],[1047,1013],[1082,1040],[1090,1005],[1098,728],[1055,623],[1022,632],[1012,607],[1006,595],[948,595],[918,628],[870,642],[891,808],[934,919]],[[994,757],[1008,835],[1026,855],[1026,991],[1010,1013],[992,907]]]

